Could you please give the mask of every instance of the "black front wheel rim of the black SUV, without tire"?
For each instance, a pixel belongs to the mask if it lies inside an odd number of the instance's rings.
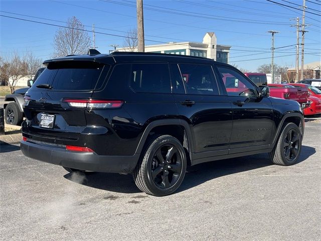
[[[299,152],[300,138],[296,130],[291,129],[287,132],[283,142],[283,153],[287,161],[292,162]]]

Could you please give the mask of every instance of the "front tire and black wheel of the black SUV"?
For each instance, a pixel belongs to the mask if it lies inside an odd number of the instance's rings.
[[[284,124],[282,133],[269,153],[270,160],[281,166],[290,166],[297,163],[302,145],[302,135],[299,128],[293,123]]]

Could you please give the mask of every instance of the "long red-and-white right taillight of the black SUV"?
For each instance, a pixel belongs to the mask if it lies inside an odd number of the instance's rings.
[[[99,100],[99,99],[63,99],[63,102],[69,104],[70,107],[76,108],[119,108],[124,101],[122,100]]]

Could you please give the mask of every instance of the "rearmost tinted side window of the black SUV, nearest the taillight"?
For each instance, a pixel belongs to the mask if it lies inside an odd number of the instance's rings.
[[[168,64],[132,64],[130,87],[137,92],[171,93]]]

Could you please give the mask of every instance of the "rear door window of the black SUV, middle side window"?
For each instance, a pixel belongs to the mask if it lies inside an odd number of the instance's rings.
[[[180,69],[188,94],[219,94],[211,66],[180,64]]]

